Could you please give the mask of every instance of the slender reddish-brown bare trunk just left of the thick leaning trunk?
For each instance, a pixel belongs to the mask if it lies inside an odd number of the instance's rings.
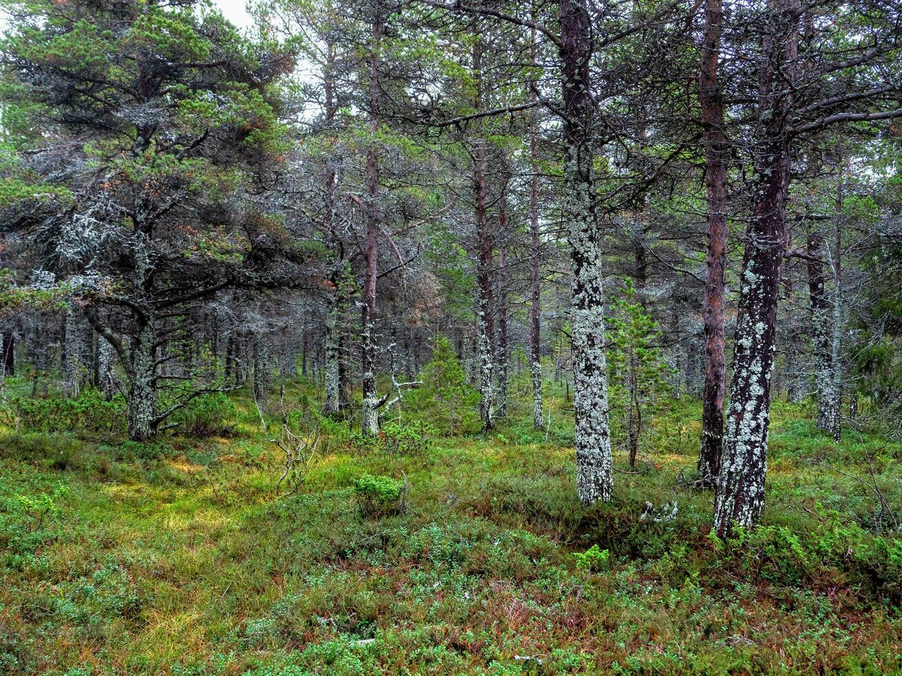
[[[724,306],[727,266],[726,191],[729,147],[718,80],[723,0],[707,0],[699,68],[699,99],[704,123],[704,185],[707,192],[708,245],[704,277],[704,390],[702,444],[698,475],[713,487],[723,452],[723,397],[726,392]]]

